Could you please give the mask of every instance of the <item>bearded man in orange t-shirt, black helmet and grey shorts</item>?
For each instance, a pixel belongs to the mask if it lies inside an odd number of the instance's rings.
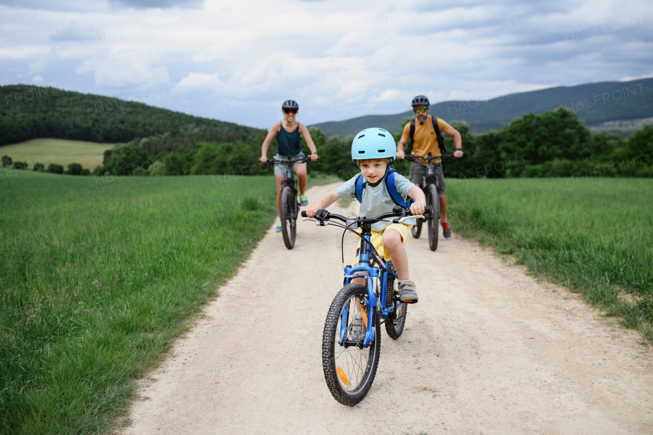
[[[438,135],[436,134],[436,129],[434,128],[434,122],[438,123],[439,131],[447,133],[447,135],[453,137],[453,142],[456,145],[456,151],[453,155],[460,159],[462,157],[462,138],[460,138],[460,133],[458,130],[454,129],[446,121],[441,120],[440,118],[432,118],[428,114],[428,108],[430,102],[427,97],[424,95],[417,95],[413,98],[411,103],[413,106],[413,111],[415,111],[415,133],[413,134],[413,153],[415,155],[441,155],[440,148],[438,145]],[[404,159],[406,153],[404,153],[404,148],[408,143],[410,137],[410,123],[406,123],[404,126],[404,132],[402,133],[402,138],[397,144],[397,158]],[[442,160],[436,159],[433,161],[435,163],[435,174],[439,179],[440,191],[440,214],[442,223],[442,233],[445,238],[451,237],[451,228],[449,227],[449,220],[447,219],[447,197],[445,196],[445,178],[442,172]],[[420,187],[422,182],[422,177],[426,175],[426,163],[421,163],[419,161],[411,161],[410,163],[410,173],[408,175],[409,180]],[[436,216],[437,217],[437,216]]]

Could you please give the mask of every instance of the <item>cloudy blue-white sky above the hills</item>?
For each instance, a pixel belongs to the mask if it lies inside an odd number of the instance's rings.
[[[653,76],[650,0],[0,0],[0,83],[268,128]]]

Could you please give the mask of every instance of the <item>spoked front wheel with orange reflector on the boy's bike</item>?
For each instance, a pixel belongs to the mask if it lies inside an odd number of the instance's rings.
[[[367,316],[374,316],[374,340],[368,347],[362,346],[362,339],[352,340],[352,323],[358,312],[361,312],[361,307],[356,306],[357,300],[364,304],[363,334],[366,332]],[[351,283],[342,287],[331,302],[322,336],[322,367],[328,389],[338,402],[347,406],[354,406],[363,400],[372,387],[379,366],[381,325],[376,307],[368,310],[366,301],[367,291],[364,285]]]

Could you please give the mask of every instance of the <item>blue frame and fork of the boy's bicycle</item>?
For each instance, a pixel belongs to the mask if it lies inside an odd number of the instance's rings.
[[[355,267],[343,267],[345,272],[345,285],[351,283],[354,278],[365,278],[367,296],[368,296],[368,309],[367,309],[367,332],[365,334],[365,340],[363,341],[363,346],[368,347],[371,342],[374,341],[374,328],[372,328],[372,322],[374,322],[374,315],[372,315],[372,307],[377,307],[377,314],[381,319],[387,320],[390,313],[394,312],[394,304],[389,308],[385,308],[387,305],[387,289],[388,278],[389,276],[394,276],[398,279],[396,272],[390,270],[387,266],[387,261],[377,257],[375,253],[372,252],[370,248],[371,242],[370,237],[372,233],[370,232],[370,225],[362,225],[362,233],[360,234],[360,251],[358,257],[358,266]],[[371,261],[374,261],[379,265],[370,266]],[[380,269],[380,270],[379,270]],[[366,272],[364,274],[362,272]],[[379,295],[376,295],[377,283],[381,280],[379,287]],[[362,310],[361,305],[361,310]],[[347,306],[343,308],[343,318],[347,318]],[[341,323],[340,325],[340,346],[343,346],[342,337],[347,336],[347,325]]]

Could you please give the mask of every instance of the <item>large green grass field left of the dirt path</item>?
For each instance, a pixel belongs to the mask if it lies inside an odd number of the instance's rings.
[[[272,225],[274,181],[2,172],[0,433],[103,432]]]

